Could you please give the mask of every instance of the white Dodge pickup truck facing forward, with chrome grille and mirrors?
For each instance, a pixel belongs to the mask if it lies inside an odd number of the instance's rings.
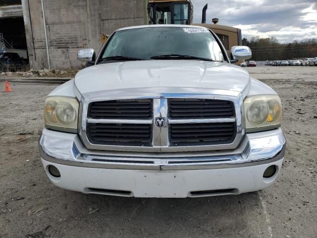
[[[134,197],[240,194],[271,185],[285,138],[274,90],[232,64],[207,28],[116,30],[93,66],[45,100],[39,150],[49,179],[83,193]]]

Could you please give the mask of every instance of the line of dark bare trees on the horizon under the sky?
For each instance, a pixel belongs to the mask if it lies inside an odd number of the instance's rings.
[[[243,38],[242,45],[251,48],[251,60],[295,60],[317,57],[316,38],[282,44],[275,37],[253,36],[250,40]]]

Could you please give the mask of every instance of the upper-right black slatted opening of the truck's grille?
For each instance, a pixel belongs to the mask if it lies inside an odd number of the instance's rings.
[[[233,103],[213,99],[175,99],[169,100],[171,119],[207,119],[234,116]]]

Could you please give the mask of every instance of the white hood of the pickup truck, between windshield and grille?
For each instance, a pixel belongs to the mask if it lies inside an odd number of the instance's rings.
[[[199,60],[145,60],[90,66],[75,76],[81,94],[149,87],[186,87],[242,92],[250,76],[239,66]]]

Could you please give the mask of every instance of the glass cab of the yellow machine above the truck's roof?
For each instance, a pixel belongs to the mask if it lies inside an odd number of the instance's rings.
[[[190,0],[152,0],[148,4],[149,24],[190,25],[193,4]]]

